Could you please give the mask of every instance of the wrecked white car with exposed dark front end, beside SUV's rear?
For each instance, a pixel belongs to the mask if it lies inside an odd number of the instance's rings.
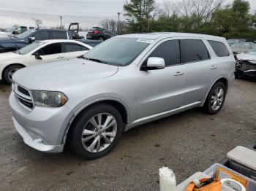
[[[237,55],[235,77],[252,77],[256,79],[256,47],[244,54]]]

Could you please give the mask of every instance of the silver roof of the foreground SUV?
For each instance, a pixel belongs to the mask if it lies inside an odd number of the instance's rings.
[[[148,34],[126,34],[117,37],[127,37],[127,38],[143,38],[143,39],[162,39],[171,37],[194,37],[202,39],[219,39],[223,40],[225,38],[219,36],[211,36],[206,34],[190,34],[190,33],[172,33],[172,32],[162,32],[162,33],[148,33]]]

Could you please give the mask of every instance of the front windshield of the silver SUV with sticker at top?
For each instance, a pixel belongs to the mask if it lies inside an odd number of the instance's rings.
[[[91,61],[107,63],[115,66],[127,66],[140,55],[140,52],[153,42],[149,39],[113,38],[108,39],[94,49],[87,52],[84,57]]]

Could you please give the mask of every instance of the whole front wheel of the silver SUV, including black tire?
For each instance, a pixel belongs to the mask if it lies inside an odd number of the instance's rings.
[[[100,114],[102,117],[99,117]],[[109,120],[111,117],[113,117],[112,120]],[[101,125],[97,126],[99,125],[99,118]],[[106,122],[107,119],[108,122]],[[105,122],[108,124],[105,125]],[[111,126],[106,128],[109,125]],[[121,114],[115,107],[109,104],[90,106],[78,115],[70,127],[69,147],[76,155],[86,159],[102,157],[116,146],[123,132],[123,127]]]

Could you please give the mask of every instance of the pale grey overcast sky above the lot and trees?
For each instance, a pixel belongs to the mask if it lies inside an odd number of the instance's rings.
[[[256,0],[249,2],[255,11]],[[117,12],[124,12],[124,0],[0,0],[0,5],[2,28],[13,24],[34,26],[31,17],[41,19],[43,26],[59,26],[59,15],[63,15],[62,23],[66,27],[70,22],[79,22],[83,28],[91,28],[99,26],[105,18],[117,20]]]

